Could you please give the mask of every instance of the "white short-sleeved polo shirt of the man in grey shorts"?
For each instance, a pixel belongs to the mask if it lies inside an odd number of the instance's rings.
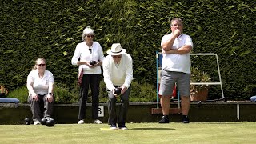
[[[162,37],[161,46],[163,42],[170,39],[171,34]],[[181,34],[175,38],[172,49],[179,49],[182,46],[190,45],[193,47],[192,39],[189,35]],[[187,54],[163,54],[162,55],[162,69],[167,71],[177,71],[190,74],[190,53]]]

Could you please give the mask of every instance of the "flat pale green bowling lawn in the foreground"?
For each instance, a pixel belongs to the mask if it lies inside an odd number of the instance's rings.
[[[256,122],[0,125],[1,143],[255,143]],[[101,130],[103,128],[104,130]]]

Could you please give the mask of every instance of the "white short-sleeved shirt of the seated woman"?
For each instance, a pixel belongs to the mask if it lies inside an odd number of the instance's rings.
[[[39,78],[38,70],[30,71],[30,74],[27,76],[27,84],[33,83],[33,90],[36,94],[45,95],[48,93],[49,84],[54,83],[54,75],[45,70],[43,78]]]

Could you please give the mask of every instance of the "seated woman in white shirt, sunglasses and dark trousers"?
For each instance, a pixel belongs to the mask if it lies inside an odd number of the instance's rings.
[[[33,114],[34,125],[41,124],[42,118],[50,119],[54,109],[54,75],[46,70],[46,60],[38,58],[27,77],[28,102]]]

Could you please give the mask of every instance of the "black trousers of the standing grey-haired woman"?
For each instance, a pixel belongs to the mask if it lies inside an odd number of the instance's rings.
[[[80,86],[79,120],[86,118],[86,102],[88,98],[89,85],[92,94],[92,118],[98,119],[98,95],[100,79],[101,74],[83,74],[82,85]]]

